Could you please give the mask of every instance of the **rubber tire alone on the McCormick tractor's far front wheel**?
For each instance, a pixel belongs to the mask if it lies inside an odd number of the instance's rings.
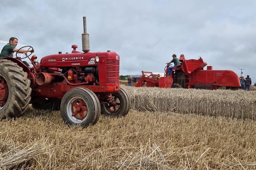
[[[116,96],[120,100],[120,108],[116,113],[111,113],[108,111],[108,103],[101,104],[101,114],[112,116],[112,117],[121,117],[126,116],[130,110],[130,98],[128,97],[125,90],[120,88],[120,90],[117,93],[113,93],[113,96]]]

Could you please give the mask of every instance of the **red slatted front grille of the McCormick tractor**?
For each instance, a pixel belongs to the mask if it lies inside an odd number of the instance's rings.
[[[106,64],[106,83],[119,83],[119,61],[114,59],[107,59]]]

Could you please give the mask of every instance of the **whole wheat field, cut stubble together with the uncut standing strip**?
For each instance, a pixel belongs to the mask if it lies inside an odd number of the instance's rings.
[[[255,92],[122,88],[128,115],[100,116],[86,129],[31,107],[0,120],[0,168],[256,168]]]

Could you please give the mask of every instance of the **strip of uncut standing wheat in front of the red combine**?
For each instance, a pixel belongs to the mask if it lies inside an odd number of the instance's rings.
[[[256,119],[256,91],[124,88],[131,109]]]

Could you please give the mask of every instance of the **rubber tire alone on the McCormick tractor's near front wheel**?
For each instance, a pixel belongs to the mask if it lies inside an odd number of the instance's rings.
[[[71,116],[72,113],[68,113],[67,111],[67,104],[69,100],[71,100],[74,97],[79,97],[84,100],[87,104],[87,116],[84,118],[84,120],[77,120],[73,121],[69,118],[68,115]],[[100,115],[100,103],[97,96],[94,94],[93,91],[77,87],[73,88],[71,90],[68,90],[66,94],[63,96],[61,100],[61,117],[63,121],[69,125],[81,125],[82,127],[87,127],[90,124],[97,123]]]

